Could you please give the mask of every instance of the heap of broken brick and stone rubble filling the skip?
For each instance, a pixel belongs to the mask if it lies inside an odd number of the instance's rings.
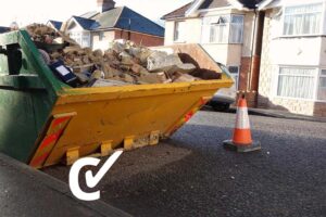
[[[46,63],[72,87],[110,87],[145,84],[188,82],[198,68],[183,63],[178,54],[138,47],[131,41],[113,41],[106,51],[80,48],[70,37],[34,24],[26,27]],[[47,56],[48,54],[48,56]]]

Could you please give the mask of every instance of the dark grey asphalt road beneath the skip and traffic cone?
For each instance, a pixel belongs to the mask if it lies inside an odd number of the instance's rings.
[[[234,124],[235,114],[199,112],[165,143],[124,153],[102,200],[149,217],[326,216],[326,123],[251,116],[263,150],[247,154],[222,146]],[[67,181],[67,167],[45,171]]]

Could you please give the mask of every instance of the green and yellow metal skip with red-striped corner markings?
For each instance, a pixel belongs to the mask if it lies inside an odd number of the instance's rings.
[[[210,58],[196,48],[196,55]],[[41,168],[154,145],[231,85],[223,74],[218,80],[71,88],[53,75],[26,31],[2,34],[0,152]]]

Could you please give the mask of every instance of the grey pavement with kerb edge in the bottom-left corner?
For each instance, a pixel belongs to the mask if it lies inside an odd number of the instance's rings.
[[[66,183],[0,154],[1,217],[128,217],[101,201],[74,199]]]

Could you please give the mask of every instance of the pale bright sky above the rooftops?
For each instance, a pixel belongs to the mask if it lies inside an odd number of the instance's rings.
[[[116,0],[117,5],[127,5],[153,20],[159,18],[190,2],[191,0]],[[5,3],[4,3],[5,2]],[[96,9],[96,0],[5,0],[1,2],[0,26],[17,22],[20,26],[29,23],[46,23],[48,20],[66,21]]]

